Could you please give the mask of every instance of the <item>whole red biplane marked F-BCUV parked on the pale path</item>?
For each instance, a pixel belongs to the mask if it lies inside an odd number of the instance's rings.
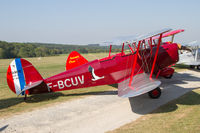
[[[7,83],[17,95],[32,95],[84,87],[118,84],[118,96],[134,97],[149,93],[151,98],[161,95],[159,76],[171,78],[169,66],[179,60],[174,35],[184,30],[163,29],[128,40],[120,53],[88,62],[78,52],[69,54],[66,71],[43,79],[35,67],[25,59],[16,58],[7,70]],[[171,42],[163,42],[172,36]],[[128,48],[128,50],[126,49]]]

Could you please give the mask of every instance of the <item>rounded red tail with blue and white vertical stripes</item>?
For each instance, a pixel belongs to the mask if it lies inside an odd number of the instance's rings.
[[[10,63],[7,70],[7,83],[17,95],[29,94],[28,89],[36,87],[42,82],[42,76],[27,60],[16,58]]]

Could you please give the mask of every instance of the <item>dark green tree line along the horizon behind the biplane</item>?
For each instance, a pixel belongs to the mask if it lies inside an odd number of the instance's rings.
[[[113,46],[112,51],[118,52],[121,47]],[[11,43],[0,41],[0,59],[18,57],[44,57],[58,54],[108,52],[108,46],[64,45],[47,43]]]

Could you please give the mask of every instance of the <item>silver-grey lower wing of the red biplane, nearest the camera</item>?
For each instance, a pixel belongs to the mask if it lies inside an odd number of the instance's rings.
[[[147,93],[158,86],[161,82],[157,79],[149,78],[146,73],[137,74],[133,77],[131,86],[129,86],[130,78],[118,84],[118,96],[120,97],[135,97]]]

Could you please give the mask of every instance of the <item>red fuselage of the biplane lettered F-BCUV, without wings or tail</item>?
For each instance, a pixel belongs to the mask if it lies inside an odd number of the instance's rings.
[[[142,58],[153,61],[155,51],[156,47],[152,50],[152,56],[150,56],[149,49],[142,50],[140,51],[140,53],[144,54]],[[122,52],[99,60],[96,59],[94,61],[90,61],[81,66],[44,79],[44,82],[47,84],[49,89],[47,89],[46,87],[39,89],[30,89],[29,94],[56,92],[62,90],[71,90],[119,83],[130,77],[131,67],[133,65],[132,60],[134,60],[135,56],[137,56],[135,53],[125,54],[124,52]],[[159,48],[154,73],[157,73],[159,70],[161,70],[162,73],[162,70],[164,70],[165,73],[162,76],[172,74],[171,71],[166,71],[165,68],[176,63],[177,61],[177,44],[173,43],[161,45]],[[148,65],[148,67],[145,66],[145,68],[150,68],[150,64],[144,64]],[[135,74],[143,72],[143,70],[140,69],[141,65],[142,59],[138,58],[136,67],[134,69]],[[99,79],[95,79],[92,72],[89,70],[90,68],[94,70],[94,74],[96,76],[100,77]]]

